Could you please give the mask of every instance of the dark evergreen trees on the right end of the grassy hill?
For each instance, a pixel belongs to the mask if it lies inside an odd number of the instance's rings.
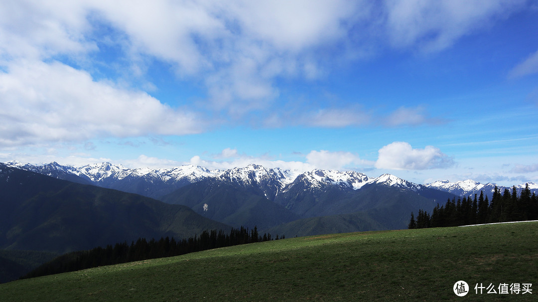
[[[535,193],[531,194],[528,184],[518,196],[515,186],[512,192],[509,189],[500,189],[495,186],[491,201],[480,191],[480,195],[463,196],[448,200],[444,206],[437,206],[431,215],[419,209],[415,219],[411,213],[408,227],[410,229],[456,227],[469,224],[482,224],[508,221],[538,220],[538,200]]]

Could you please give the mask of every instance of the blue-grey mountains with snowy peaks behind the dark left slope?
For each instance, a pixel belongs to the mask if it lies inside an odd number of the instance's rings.
[[[305,173],[252,164],[228,170],[185,165],[172,169],[130,169],[111,163],[82,167],[6,163],[12,167],[79,184],[116,189],[174,205],[185,205],[203,217],[233,227],[260,230],[301,219],[327,229],[353,214],[360,229],[405,228],[410,212],[431,210],[454,195],[391,174],[369,178],[353,171],[313,170]],[[359,213],[359,214],[357,214]],[[349,219],[349,217],[347,217]],[[312,221],[312,220],[310,220]],[[320,226],[314,229],[320,230]],[[341,229],[348,231],[349,229]],[[349,231],[351,231],[349,230]],[[290,230],[289,235],[310,233]]]

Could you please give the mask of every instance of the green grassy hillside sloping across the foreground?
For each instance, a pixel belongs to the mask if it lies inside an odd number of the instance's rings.
[[[0,301],[536,301],[537,243],[538,222],[287,238],[0,284]]]

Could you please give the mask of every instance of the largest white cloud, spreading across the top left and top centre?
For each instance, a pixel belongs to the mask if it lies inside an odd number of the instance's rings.
[[[125,51],[132,71],[144,72],[146,56],[166,62],[180,76],[206,85],[207,108],[243,115],[267,108],[278,96],[275,77],[320,74],[305,54],[345,39],[349,19],[362,15],[357,6],[343,0],[21,0],[0,12],[0,66],[3,59],[55,55],[80,62],[100,52],[97,45],[108,39],[109,47],[117,43]],[[101,37],[100,26],[121,33],[122,39]]]

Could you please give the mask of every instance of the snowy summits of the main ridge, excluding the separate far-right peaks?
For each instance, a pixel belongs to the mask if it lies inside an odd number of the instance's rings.
[[[261,189],[269,199],[273,199],[278,192],[286,191],[289,187],[298,182],[303,182],[307,187],[312,188],[338,186],[345,189],[357,190],[367,184],[383,184],[402,189],[412,189],[413,191],[421,188],[421,185],[414,184],[413,182],[403,180],[390,174],[383,174],[377,178],[369,178],[363,173],[354,171],[341,172],[336,170],[316,169],[305,173],[299,173],[297,171],[282,170],[280,168],[266,168],[256,164],[240,168],[231,168],[228,170],[209,170],[194,165],[184,165],[171,169],[130,169],[123,165],[115,165],[111,163],[90,164],[82,167],[62,166],[58,163],[31,165],[22,164],[18,161],[9,161],[6,164],[56,178],[66,179],[69,177],[73,179],[78,177],[80,178],[78,182],[91,183],[97,186],[116,189],[125,189],[127,183],[140,183],[140,181],[149,182],[152,185],[177,188],[206,178],[214,178],[220,181],[228,181],[238,184],[243,187],[257,187]],[[161,190],[158,191],[162,193]],[[133,192],[133,190],[128,190],[128,192]],[[148,193],[148,188],[133,193],[155,197],[155,195]]]

